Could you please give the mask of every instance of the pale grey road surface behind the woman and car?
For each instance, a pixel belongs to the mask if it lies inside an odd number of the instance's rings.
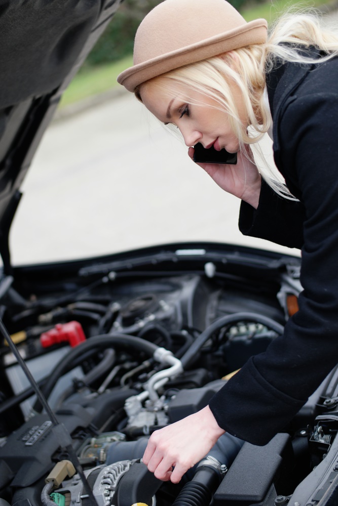
[[[298,254],[242,236],[238,199],[129,93],[53,122],[22,189],[10,235],[14,265],[195,240]]]

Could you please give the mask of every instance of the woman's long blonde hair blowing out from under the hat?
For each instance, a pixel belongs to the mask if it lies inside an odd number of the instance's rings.
[[[322,55],[311,59],[302,51],[314,47]],[[257,143],[271,127],[271,115],[264,98],[266,75],[276,65],[285,62],[303,64],[326,61],[338,55],[338,35],[326,26],[318,14],[294,12],[281,16],[269,30],[266,44],[252,45],[230,51],[197,63],[185,65],[151,79],[158,81],[162,90],[170,94],[172,84],[181,84],[211,98],[215,107],[229,115],[231,127],[239,144]],[[149,82],[149,81],[147,81]],[[140,91],[146,83],[136,90]],[[234,96],[234,83],[243,97],[243,104],[250,128],[250,135],[243,127]],[[183,95],[182,95],[182,98]],[[186,97],[189,99],[189,97]],[[203,105],[203,103],[199,103]],[[280,175],[268,164],[259,168],[261,176],[281,196],[294,198],[281,182]]]

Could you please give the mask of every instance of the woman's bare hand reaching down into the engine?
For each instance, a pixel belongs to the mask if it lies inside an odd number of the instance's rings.
[[[175,424],[155,431],[142,460],[159,480],[178,483],[188,469],[207,455],[224,432],[206,406]]]

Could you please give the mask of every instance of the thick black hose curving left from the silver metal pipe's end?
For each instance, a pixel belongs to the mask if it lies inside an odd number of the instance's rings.
[[[134,335],[122,334],[118,332],[114,332],[111,334],[103,334],[96,335],[93,338],[88,339],[87,341],[82,342],[75,348],[72,348],[67,356],[63,357],[52,370],[51,375],[49,376],[46,384],[43,387],[43,394],[48,399],[50,396],[57,380],[64,374],[64,371],[67,370],[70,364],[77,359],[79,356],[83,355],[87,350],[93,349],[105,349],[105,348],[127,348],[128,351],[132,352],[132,350],[140,351],[146,353],[149,356],[153,356],[155,351],[158,349],[158,346],[145,341],[144,339],[136,338]],[[41,413],[42,404],[40,401],[36,401],[33,409]]]

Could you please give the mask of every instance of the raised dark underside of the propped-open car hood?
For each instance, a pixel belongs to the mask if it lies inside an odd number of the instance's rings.
[[[20,185],[62,93],[120,0],[0,1],[0,254],[11,272],[9,230]]]

